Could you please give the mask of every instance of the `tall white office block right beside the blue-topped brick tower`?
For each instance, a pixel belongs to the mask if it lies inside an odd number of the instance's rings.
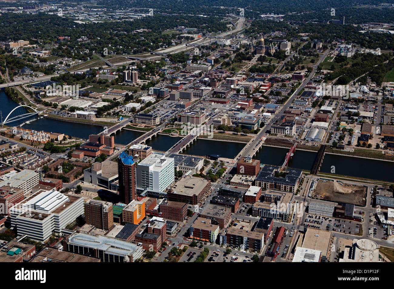
[[[137,188],[164,191],[174,180],[173,158],[152,152],[137,165]]]

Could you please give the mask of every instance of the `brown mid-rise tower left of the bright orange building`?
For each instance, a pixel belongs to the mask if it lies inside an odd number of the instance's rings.
[[[85,203],[85,220],[96,228],[110,230],[113,226],[112,203],[97,200]]]

